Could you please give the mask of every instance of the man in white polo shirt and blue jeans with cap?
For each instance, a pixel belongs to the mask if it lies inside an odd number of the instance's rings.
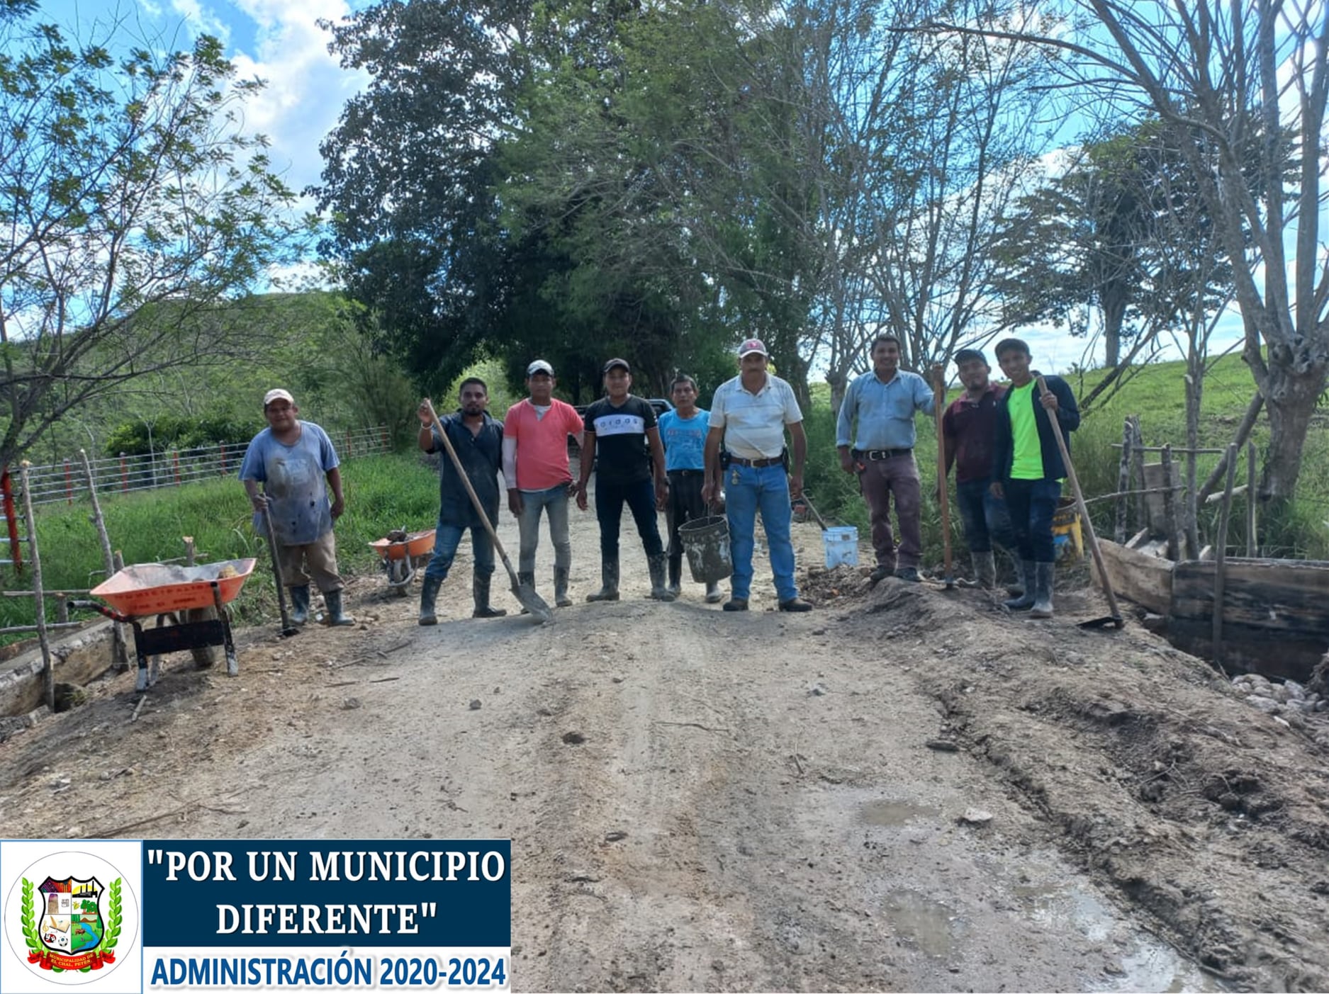
[[[746,611],[752,590],[752,545],[756,513],[762,512],[766,541],[771,549],[771,573],[781,611],[811,611],[793,582],[793,542],[789,540],[791,497],[803,493],[803,464],[808,439],[793,388],[766,371],[766,346],[748,339],[739,346],[739,375],[726,380],[711,400],[711,429],[706,436],[707,502],[720,494],[724,476],[724,506],[730,520],[730,555],[734,577],[726,611]],[[792,472],[785,470],[784,432],[793,448]],[[727,468],[722,466],[720,443]]]

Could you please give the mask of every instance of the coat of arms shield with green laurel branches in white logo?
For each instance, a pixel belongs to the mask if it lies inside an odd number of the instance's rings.
[[[23,936],[28,962],[43,970],[100,970],[116,962],[122,880],[97,877],[23,878]]]

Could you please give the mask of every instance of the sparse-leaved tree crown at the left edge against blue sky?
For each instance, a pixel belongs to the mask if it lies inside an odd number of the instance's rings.
[[[225,361],[214,306],[295,251],[292,194],[238,110],[259,88],[221,44],[161,54],[0,5],[0,464],[145,373]],[[153,320],[169,304],[169,320]]]

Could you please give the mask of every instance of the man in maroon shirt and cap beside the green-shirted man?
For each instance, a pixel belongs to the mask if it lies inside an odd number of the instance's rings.
[[[946,474],[956,466],[956,504],[965,526],[965,542],[974,562],[978,585],[997,583],[993,540],[1006,549],[1015,547],[1006,502],[990,492],[993,447],[997,435],[997,401],[1005,392],[989,380],[991,367],[977,348],[956,353],[960,381],[965,392],[946,408],[941,419]]]

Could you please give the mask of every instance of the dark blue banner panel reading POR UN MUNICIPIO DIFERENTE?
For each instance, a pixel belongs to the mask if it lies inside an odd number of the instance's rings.
[[[144,843],[145,946],[510,946],[508,840]]]

